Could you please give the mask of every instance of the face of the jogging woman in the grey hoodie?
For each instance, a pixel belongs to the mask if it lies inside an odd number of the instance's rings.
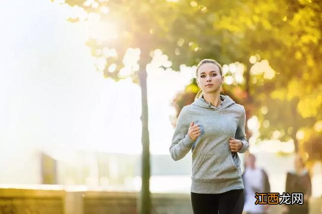
[[[204,63],[199,67],[197,77],[199,87],[204,93],[211,93],[220,90],[220,83],[223,82],[223,76],[217,65],[213,63]]]

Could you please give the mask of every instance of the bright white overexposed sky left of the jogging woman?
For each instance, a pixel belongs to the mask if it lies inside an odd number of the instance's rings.
[[[23,153],[85,149],[141,153],[140,88],[104,79],[85,45],[89,30],[48,1],[0,8],[0,140],[7,160]],[[150,151],[169,154],[170,101],[192,71],[148,70]],[[29,152],[27,152],[29,151]]]

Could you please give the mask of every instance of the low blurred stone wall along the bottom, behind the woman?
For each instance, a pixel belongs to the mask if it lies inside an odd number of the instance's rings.
[[[135,214],[139,205],[139,192],[37,187],[0,187],[0,214]],[[153,193],[151,199],[152,214],[193,213],[189,194]],[[281,213],[281,206],[271,205],[270,213]],[[315,213],[322,213],[322,198],[310,200],[310,214]]]

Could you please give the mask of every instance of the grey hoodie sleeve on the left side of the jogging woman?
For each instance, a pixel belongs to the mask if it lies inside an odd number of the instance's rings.
[[[176,129],[172,137],[170,154],[175,161],[182,159],[190,151],[194,141],[188,135],[190,123],[187,120],[187,109],[184,107],[178,117]]]

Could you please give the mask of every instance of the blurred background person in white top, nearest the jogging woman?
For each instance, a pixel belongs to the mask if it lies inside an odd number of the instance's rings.
[[[255,204],[257,200],[255,198],[255,193],[265,192],[268,193],[271,191],[270,182],[268,175],[263,168],[256,167],[256,157],[253,154],[245,155],[245,170],[241,177],[244,182],[244,212],[246,214],[261,214],[268,213],[269,204]],[[260,198],[261,199],[261,198]],[[267,196],[262,199],[262,201],[267,202]],[[244,213],[243,212],[243,213]]]

